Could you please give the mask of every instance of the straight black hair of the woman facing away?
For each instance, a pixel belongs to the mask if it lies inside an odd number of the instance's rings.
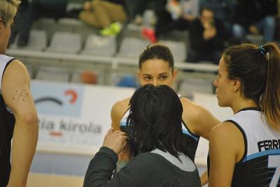
[[[178,158],[188,155],[181,125],[183,107],[175,91],[166,86],[146,84],[137,89],[130,100],[127,128],[134,156],[160,149]]]

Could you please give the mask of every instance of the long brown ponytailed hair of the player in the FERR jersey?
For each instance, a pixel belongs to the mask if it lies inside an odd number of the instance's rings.
[[[241,44],[223,53],[228,77],[241,81],[241,93],[254,100],[269,126],[280,132],[280,51],[276,43]]]

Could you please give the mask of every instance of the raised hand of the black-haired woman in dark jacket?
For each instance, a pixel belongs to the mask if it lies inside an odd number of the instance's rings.
[[[103,146],[112,149],[116,154],[120,154],[127,144],[127,135],[120,130],[110,128],[104,137]]]

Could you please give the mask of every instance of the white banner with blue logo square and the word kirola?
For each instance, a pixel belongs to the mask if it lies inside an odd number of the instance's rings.
[[[111,107],[134,89],[32,81],[38,151],[92,155],[111,127]]]

